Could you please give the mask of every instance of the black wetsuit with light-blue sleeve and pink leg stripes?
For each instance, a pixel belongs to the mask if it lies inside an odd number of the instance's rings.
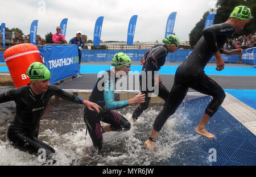
[[[94,85],[90,102],[97,103],[101,109],[100,113],[84,109],[84,120],[88,128],[93,146],[98,150],[102,148],[102,134],[104,133],[100,121],[110,124],[112,131],[129,130],[131,124],[125,117],[112,111],[113,109],[122,108],[128,105],[128,101],[114,101],[115,78],[113,70],[107,70]]]

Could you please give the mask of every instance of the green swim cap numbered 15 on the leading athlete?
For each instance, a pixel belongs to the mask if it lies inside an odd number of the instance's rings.
[[[235,7],[229,17],[238,18],[241,20],[253,19],[253,16],[251,16],[251,10],[246,6]]]

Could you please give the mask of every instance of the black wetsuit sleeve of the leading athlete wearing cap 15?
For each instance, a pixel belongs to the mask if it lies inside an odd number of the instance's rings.
[[[234,32],[234,26],[228,23],[215,24],[203,30],[204,39],[213,53],[219,50],[216,35],[229,36]]]

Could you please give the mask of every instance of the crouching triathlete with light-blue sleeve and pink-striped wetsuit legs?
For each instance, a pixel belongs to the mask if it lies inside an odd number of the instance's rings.
[[[131,124],[125,117],[113,111],[125,107],[129,104],[144,102],[144,94],[138,94],[134,98],[125,101],[114,101],[115,82],[117,75],[126,75],[130,71],[131,59],[125,53],[117,53],[111,62],[115,68],[105,71],[100,78],[97,79],[89,100],[101,106],[100,113],[90,111],[85,108],[84,120],[93,146],[89,147],[92,153],[97,153],[102,148],[102,134],[108,131],[129,130]],[[122,73],[119,73],[122,72]],[[100,121],[108,123],[101,127]]]

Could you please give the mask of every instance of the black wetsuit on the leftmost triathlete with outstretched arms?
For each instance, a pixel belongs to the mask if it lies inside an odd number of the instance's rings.
[[[16,103],[16,115],[7,133],[14,147],[30,154],[38,154],[40,148],[46,150],[46,155],[55,153],[51,146],[38,140],[39,122],[53,95],[82,104],[79,96],[71,95],[53,85],[50,85],[48,90],[40,95],[35,95],[30,85],[0,94],[0,103],[9,101]]]

